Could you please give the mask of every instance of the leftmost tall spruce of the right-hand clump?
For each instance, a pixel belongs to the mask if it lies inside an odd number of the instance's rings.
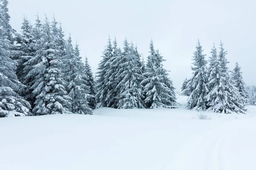
[[[202,45],[198,40],[196,51],[193,56],[192,77],[187,83],[187,88],[184,90],[185,94],[189,94],[187,100],[187,108],[205,111],[207,110],[207,101],[205,96],[208,93],[207,89],[207,61],[205,54],[203,54]]]

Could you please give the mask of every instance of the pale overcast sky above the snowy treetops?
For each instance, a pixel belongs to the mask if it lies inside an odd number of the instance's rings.
[[[206,2],[207,1],[207,2]],[[125,37],[137,44],[146,58],[151,38],[167,61],[164,67],[180,91],[191,76],[195,44],[199,38],[210,55],[213,42],[224,42],[230,69],[239,62],[247,85],[256,85],[256,0],[9,0],[14,29],[20,31],[25,15],[34,23],[53,13],[65,35],[78,41],[93,72],[101,60],[108,35],[119,46]]]

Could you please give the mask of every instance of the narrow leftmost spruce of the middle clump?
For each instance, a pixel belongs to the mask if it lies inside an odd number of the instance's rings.
[[[111,39],[108,37],[108,45],[105,47],[103,52],[102,60],[98,65],[98,72],[96,73],[96,89],[97,93],[95,95],[96,102],[99,107],[107,107],[108,102],[106,97],[108,95],[108,88],[106,83],[108,82],[109,77],[105,77],[107,71],[109,70],[110,63],[108,62],[113,53],[113,47],[111,44]]]

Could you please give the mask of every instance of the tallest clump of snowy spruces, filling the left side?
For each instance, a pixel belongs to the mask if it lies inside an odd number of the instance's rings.
[[[96,107],[94,79],[79,46],[64,40],[61,26],[47,17],[21,34],[9,24],[8,0],[0,0],[0,117],[91,114]]]

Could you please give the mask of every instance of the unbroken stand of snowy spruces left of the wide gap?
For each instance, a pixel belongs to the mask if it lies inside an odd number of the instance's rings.
[[[137,46],[116,39],[103,51],[96,80],[79,45],[64,39],[55,17],[35,24],[24,17],[21,32],[9,24],[8,0],[0,0],[0,117],[92,114],[97,107],[174,108],[175,88],[163,56],[150,43],[146,65]]]

